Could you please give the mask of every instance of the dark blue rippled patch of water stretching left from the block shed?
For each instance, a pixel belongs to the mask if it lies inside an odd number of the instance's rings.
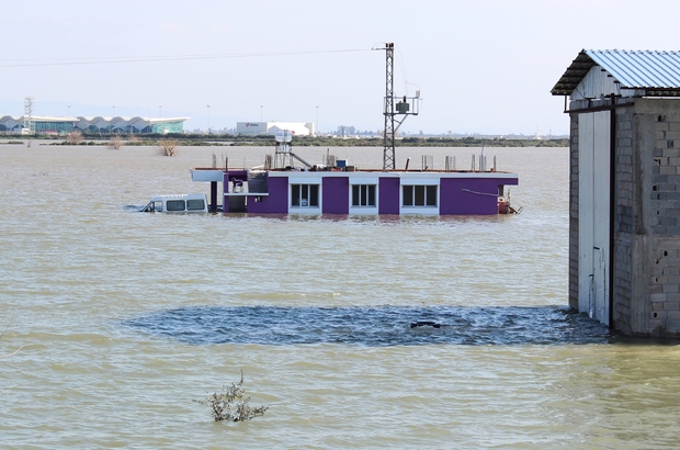
[[[434,323],[439,327],[419,326]],[[125,326],[191,345],[358,346],[607,344],[609,330],[558,307],[203,306],[166,310]]]

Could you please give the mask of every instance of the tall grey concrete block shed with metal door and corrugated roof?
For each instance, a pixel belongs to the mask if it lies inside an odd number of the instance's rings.
[[[570,119],[570,305],[680,337],[680,52],[581,50],[552,93]]]

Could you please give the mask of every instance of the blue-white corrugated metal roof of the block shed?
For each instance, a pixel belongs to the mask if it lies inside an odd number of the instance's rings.
[[[594,66],[607,70],[621,89],[673,91],[680,94],[680,52],[581,50],[551,90],[570,95]]]

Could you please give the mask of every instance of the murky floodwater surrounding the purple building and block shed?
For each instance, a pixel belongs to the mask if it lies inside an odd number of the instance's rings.
[[[0,145],[2,448],[680,446],[680,348],[566,306],[566,148],[485,150],[521,215],[247,217],[134,205],[271,148],[38,144]],[[241,370],[269,409],[215,423]]]

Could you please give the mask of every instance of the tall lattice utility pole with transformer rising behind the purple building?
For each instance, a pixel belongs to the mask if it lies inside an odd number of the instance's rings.
[[[404,123],[407,115],[418,115],[420,112],[420,90],[416,91],[416,97],[401,97],[397,99],[395,110],[394,94],[394,43],[385,43],[384,48],[386,57],[386,80],[385,80],[385,106],[383,115],[385,115],[385,130],[383,134],[383,170],[395,169],[395,136],[399,131],[399,126]],[[403,115],[401,120],[395,119]],[[396,124],[396,126],[395,126]]]

